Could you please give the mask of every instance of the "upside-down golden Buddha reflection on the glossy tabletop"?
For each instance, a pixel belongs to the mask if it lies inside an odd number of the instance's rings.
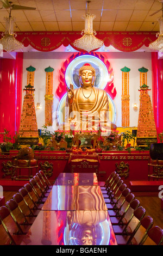
[[[96,245],[99,223],[108,217],[102,193],[99,186],[78,186],[77,190],[74,198],[77,210],[67,213],[69,229],[75,233],[79,245]]]

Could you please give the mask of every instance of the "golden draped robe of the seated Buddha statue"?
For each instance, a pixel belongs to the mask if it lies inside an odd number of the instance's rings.
[[[60,130],[98,130],[99,125],[102,130],[111,130],[108,95],[103,89],[92,87],[88,98],[84,97],[82,87],[74,89],[73,103],[68,105],[67,97],[66,107],[69,107],[69,111]]]

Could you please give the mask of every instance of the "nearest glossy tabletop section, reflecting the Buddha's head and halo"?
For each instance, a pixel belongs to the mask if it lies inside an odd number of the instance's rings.
[[[108,211],[40,211],[21,245],[117,245]]]

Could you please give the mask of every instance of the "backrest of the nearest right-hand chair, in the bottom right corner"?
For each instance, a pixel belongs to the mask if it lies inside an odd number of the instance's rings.
[[[159,226],[155,226],[148,231],[148,237],[150,237],[156,245],[161,245],[163,242],[163,230]]]

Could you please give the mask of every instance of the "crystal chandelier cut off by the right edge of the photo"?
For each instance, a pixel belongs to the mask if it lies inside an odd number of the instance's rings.
[[[158,39],[156,39],[154,42],[151,42],[151,44],[149,44],[149,48],[163,52],[163,17],[160,17],[158,21],[160,23],[160,32],[156,33],[156,37]]]

